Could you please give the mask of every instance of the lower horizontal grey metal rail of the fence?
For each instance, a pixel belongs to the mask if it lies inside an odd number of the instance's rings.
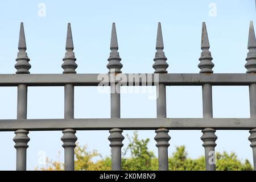
[[[0,131],[49,130],[250,130],[256,128],[250,118],[108,118],[108,119],[0,119]]]

